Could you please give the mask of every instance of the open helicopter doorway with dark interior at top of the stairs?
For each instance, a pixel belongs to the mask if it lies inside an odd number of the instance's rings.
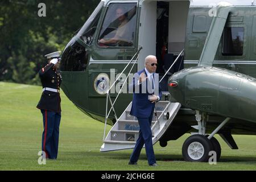
[[[157,10],[156,56],[159,67],[156,72],[161,79],[184,49],[189,1],[158,2]],[[168,90],[168,77],[183,68],[183,56],[180,56],[160,83],[164,91]]]

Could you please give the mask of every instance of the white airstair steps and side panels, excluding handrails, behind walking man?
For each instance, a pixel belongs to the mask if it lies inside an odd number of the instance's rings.
[[[136,117],[130,115],[131,104],[123,111],[121,117],[109,131],[100,151],[115,151],[134,148],[139,137],[139,123]],[[152,143],[155,144],[171,125],[177,111],[180,109],[178,102],[159,101],[156,103],[155,114],[152,118]]]

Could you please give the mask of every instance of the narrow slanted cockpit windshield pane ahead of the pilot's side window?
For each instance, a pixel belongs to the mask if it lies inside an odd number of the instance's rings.
[[[81,30],[78,32],[77,36],[90,46],[92,44],[93,35],[96,31],[96,27],[98,24],[98,20],[100,19],[100,14],[102,7],[104,5],[104,2],[100,2],[96,9],[93,11],[92,15],[88,18],[88,20],[85,22],[84,26],[82,26]]]

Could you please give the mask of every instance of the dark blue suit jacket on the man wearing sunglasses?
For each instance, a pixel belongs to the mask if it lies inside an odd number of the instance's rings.
[[[134,115],[137,118],[148,118],[150,117],[152,110],[155,107],[155,102],[151,103],[150,100],[148,100],[148,96],[155,94],[156,96],[159,96],[159,98],[161,98],[162,92],[159,82],[156,83],[156,81],[159,80],[154,81],[155,85],[158,85],[159,94],[157,94],[156,92],[150,92],[152,91],[150,89],[146,89],[147,87],[151,88],[151,84],[150,82],[148,82],[148,79],[142,82],[142,84],[138,84],[139,75],[141,75],[142,72],[144,72],[147,76],[145,69],[142,69],[134,76],[133,85],[130,85],[133,86],[133,104],[131,106],[130,114]],[[155,73],[153,73],[153,77],[155,78]],[[155,91],[156,89],[157,88],[155,88]]]

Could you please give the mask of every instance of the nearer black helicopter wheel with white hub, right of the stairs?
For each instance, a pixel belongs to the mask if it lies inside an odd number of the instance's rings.
[[[209,152],[213,150],[212,142],[204,135],[188,137],[182,146],[182,155],[185,161],[208,162]]]

